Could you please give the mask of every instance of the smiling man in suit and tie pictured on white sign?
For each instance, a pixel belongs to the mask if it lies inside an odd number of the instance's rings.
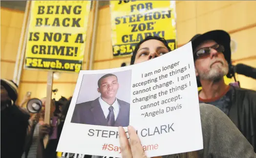
[[[76,104],[71,123],[128,126],[130,104],[116,98],[118,88],[119,83],[115,75],[107,74],[101,77],[98,80],[98,92],[101,96],[92,101]]]

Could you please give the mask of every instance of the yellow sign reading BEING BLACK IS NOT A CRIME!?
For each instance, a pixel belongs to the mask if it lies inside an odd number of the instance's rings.
[[[24,67],[79,72],[90,5],[90,0],[33,0]]]

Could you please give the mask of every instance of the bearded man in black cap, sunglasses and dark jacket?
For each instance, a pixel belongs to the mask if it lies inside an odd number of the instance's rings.
[[[200,103],[222,110],[236,125],[256,152],[256,91],[224,82],[231,64],[230,36],[223,30],[192,38],[193,58]]]

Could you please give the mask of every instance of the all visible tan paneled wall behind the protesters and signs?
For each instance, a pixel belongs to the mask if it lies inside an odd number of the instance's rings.
[[[178,45],[188,42],[197,33],[223,29],[228,31],[231,38],[238,44],[237,51],[232,55],[235,63],[256,67],[255,6],[256,1],[245,0],[176,1]],[[1,78],[12,79],[13,77],[22,20],[22,12],[1,8]],[[88,36],[91,35],[91,23],[88,26]],[[113,59],[110,31],[110,12],[109,7],[106,6],[99,10],[94,69],[120,67],[122,62],[130,60],[130,57]],[[90,38],[86,41],[85,54],[89,51]],[[54,81],[53,88],[59,89],[57,99],[61,95],[69,97],[73,94],[77,77],[78,75],[74,73],[62,73],[60,79]],[[32,91],[32,97],[44,97],[46,79],[47,73],[44,71],[24,70],[21,77],[20,97],[26,91]],[[242,87],[256,90],[256,80],[243,76],[238,76],[238,79]]]

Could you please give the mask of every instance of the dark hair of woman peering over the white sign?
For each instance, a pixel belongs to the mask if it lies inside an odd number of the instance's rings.
[[[140,47],[140,45],[147,41],[147,40],[160,40],[161,42],[164,43],[164,45],[167,47],[167,49],[171,52],[171,48],[168,46],[168,43],[167,41],[164,39],[164,38],[160,38],[158,36],[148,36],[146,37],[144,40],[141,40],[135,47],[133,53],[132,53],[132,56],[131,56],[131,59],[130,59],[130,65],[133,65],[134,64],[134,61],[135,61],[135,57],[136,57],[136,54],[137,54],[137,51]]]

